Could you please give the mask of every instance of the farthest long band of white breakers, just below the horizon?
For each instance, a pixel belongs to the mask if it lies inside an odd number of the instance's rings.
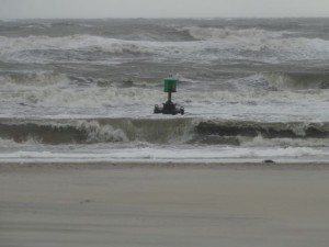
[[[258,29],[235,30],[183,27],[194,41],[126,41],[120,38],[70,35],[61,37],[0,36],[0,57],[15,63],[114,63],[114,58],[149,57],[178,61],[212,63],[218,59],[274,63],[328,59],[329,41],[286,37],[284,32]],[[120,61],[115,61],[120,63]]]

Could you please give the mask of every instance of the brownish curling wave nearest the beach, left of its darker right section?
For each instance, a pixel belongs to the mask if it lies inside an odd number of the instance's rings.
[[[5,121],[0,123],[0,138],[24,143],[93,144],[147,142],[168,144],[182,142],[192,127],[192,120],[52,120]]]

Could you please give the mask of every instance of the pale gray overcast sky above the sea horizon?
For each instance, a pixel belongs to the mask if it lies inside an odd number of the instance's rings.
[[[0,0],[0,19],[328,16],[329,0]]]

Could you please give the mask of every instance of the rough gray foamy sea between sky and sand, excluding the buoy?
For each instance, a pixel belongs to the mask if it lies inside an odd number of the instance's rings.
[[[327,161],[328,108],[329,19],[0,21],[0,161]]]

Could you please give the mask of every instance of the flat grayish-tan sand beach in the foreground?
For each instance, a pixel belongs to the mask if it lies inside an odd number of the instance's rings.
[[[328,247],[328,165],[0,165],[0,246]]]

